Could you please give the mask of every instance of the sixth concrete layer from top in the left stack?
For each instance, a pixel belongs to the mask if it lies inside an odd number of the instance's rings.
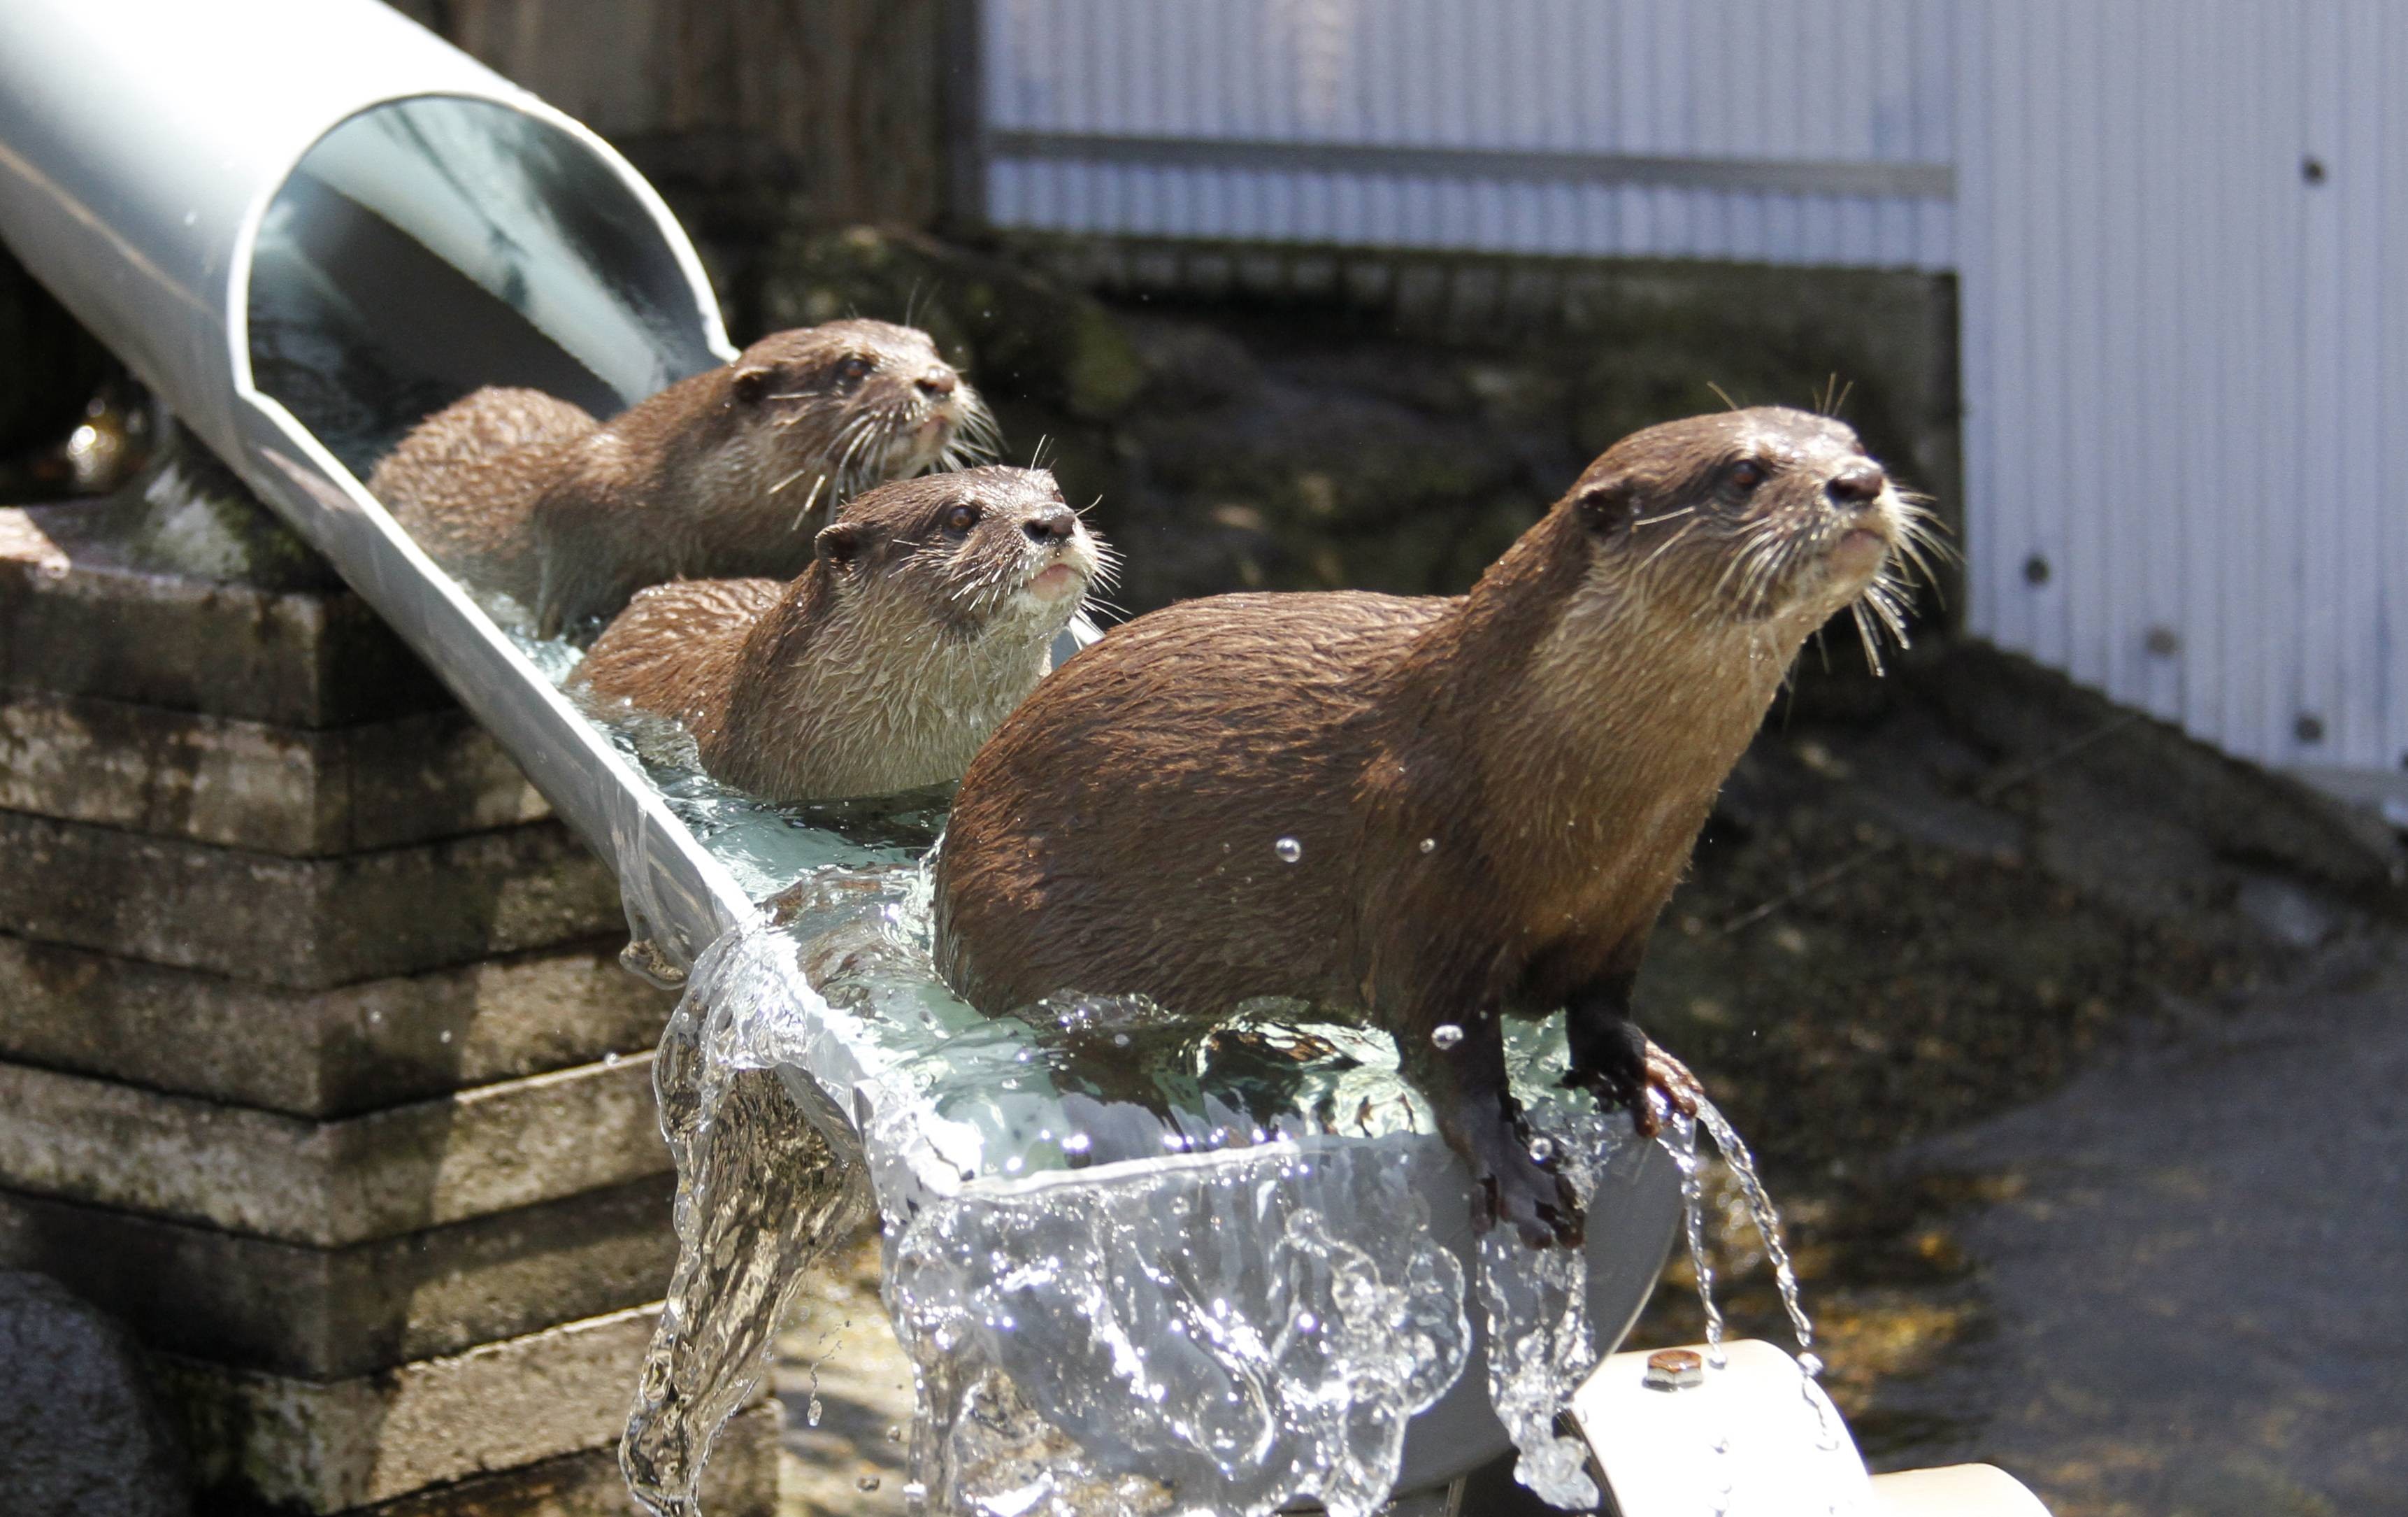
[[[340,1380],[660,1300],[669,1175],[308,1247],[0,1190],[0,1269],[72,1279],[149,1348]]]

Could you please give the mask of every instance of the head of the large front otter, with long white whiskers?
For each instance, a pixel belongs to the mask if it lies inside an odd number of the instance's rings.
[[[1922,561],[1924,513],[1830,417],[1753,407],[1635,431],[1563,508],[1592,575],[1690,624],[1796,645],[1852,609],[1869,655],[1873,619],[1905,641],[1898,559]]]

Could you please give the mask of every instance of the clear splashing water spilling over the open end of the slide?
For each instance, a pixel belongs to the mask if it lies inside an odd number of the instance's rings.
[[[1556,1418],[1623,1324],[1589,1322],[1582,1252],[1433,1216],[1462,1187],[1382,1033],[1298,1002],[1218,1028],[1141,997],[980,1016],[929,958],[942,795],[768,809],[701,778],[674,727],[616,739],[763,901],[694,966],[657,1062],[681,1247],[621,1445],[653,1512],[698,1512],[802,1269],[867,1206],[915,1370],[910,1510],[1368,1517],[1474,1358],[1474,1303],[1519,1478],[1594,1505]],[[1507,1059],[1584,1202],[1645,1156],[1560,1088],[1560,1021],[1507,1023]],[[1693,1137],[1669,1129],[1688,1163]]]

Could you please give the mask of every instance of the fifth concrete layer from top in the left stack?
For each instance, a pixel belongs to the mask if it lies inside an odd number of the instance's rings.
[[[0,1064],[0,1187],[284,1242],[393,1238],[667,1168],[650,1055],[335,1122]]]

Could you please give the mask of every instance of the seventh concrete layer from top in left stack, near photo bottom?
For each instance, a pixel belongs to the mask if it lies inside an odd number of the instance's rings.
[[[448,1481],[585,1450],[612,1454],[657,1317],[657,1305],[643,1305],[347,1380],[173,1356],[157,1368],[183,1418],[202,1510],[243,1510],[243,1500],[380,1510]],[[624,1488],[619,1503],[626,1512]]]

